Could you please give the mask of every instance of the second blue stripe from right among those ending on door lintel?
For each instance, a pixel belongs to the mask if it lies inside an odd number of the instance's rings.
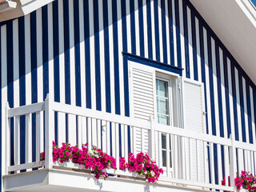
[[[172,2],[168,1],[169,36],[170,36],[170,65],[174,66],[174,29],[173,29],[174,18],[173,18],[173,10],[172,9],[173,9]]]

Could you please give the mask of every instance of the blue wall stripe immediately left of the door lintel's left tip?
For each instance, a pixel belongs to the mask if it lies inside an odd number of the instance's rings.
[[[114,39],[114,98],[115,113],[120,114],[119,61],[118,61],[118,15],[117,0],[112,0],[113,39]]]

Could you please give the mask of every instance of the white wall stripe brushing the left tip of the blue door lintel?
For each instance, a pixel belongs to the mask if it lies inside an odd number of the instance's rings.
[[[118,59],[119,59],[119,86],[120,86],[120,112],[125,114],[125,96],[123,79],[123,58],[122,58],[122,7],[121,1],[117,1],[118,12]]]

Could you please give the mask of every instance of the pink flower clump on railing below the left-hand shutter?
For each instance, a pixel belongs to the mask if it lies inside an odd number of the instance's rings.
[[[136,155],[136,158],[133,153],[128,155],[128,162],[125,158],[120,158],[120,169],[129,170],[137,172],[146,176],[148,182],[156,182],[160,174],[163,174],[163,170],[159,169],[156,163],[150,159],[148,154],[143,154],[142,152]]]

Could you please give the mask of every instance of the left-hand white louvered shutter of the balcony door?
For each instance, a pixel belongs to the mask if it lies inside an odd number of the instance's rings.
[[[130,68],[132,91],[132,114],[134,118],[149,120],[154,117],[154,70],[150,67],[134,64]],[[149,134],[146,130],[135,128],[134,152],[146,152],[149,148]],[[142,147],[142,142],[144,147]],[[143,149],[144,148],[144,149]]]

